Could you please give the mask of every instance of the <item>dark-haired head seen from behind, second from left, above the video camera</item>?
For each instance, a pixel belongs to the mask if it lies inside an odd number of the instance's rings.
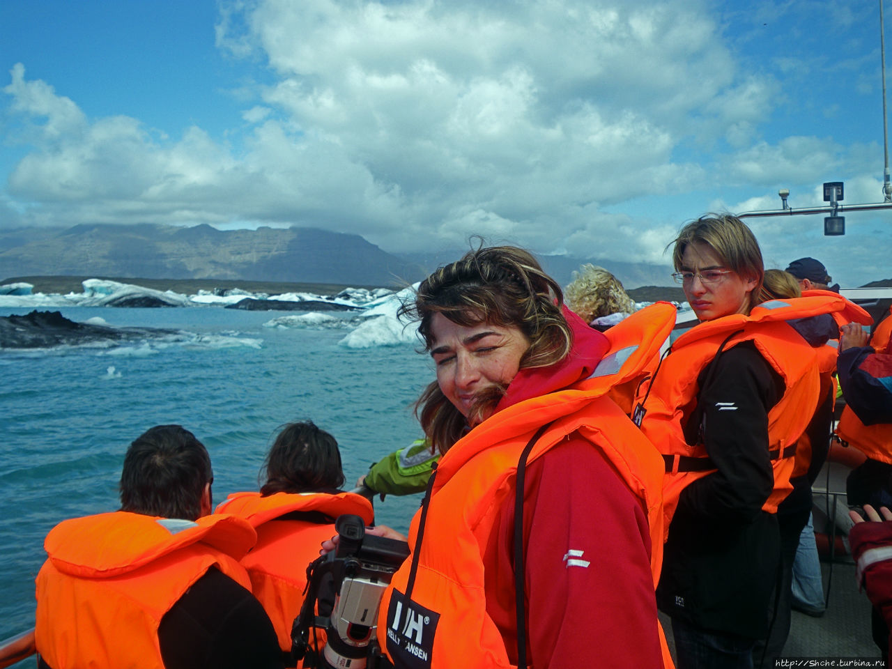
[[[310,420],[288,423],[279,431],[264,469],[263,497],[276,492],[331,491],[344,482],[335,437]]]

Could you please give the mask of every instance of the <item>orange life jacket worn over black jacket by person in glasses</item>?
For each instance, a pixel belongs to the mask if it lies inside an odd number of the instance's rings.
[[[697,379],[720,347],[727,351],[742,342],[753,342],[757,351],[780,375],[784,393],[768,412],[768,450],[772,458],[774,489],[764,510],[777,506],[793,489],[789,483],[796,443],[820,399],[820,379],[815,350],[785,321],[822,313],[847,311],[849,320],[870,318],[866,311],[837,293],[766,301],[749,316],[733,314],[694,326],[669,349],[657,374],[642,384],[639,399],[646,413],[641,425],[665,456],[663,488],[665,528],[668,530],[685,486],[714,472],[706,447],[685,441],[683,423],[696,407]]]

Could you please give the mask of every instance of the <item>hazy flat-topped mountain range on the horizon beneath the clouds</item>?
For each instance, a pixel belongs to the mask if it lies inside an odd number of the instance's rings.
[[[209,225],[78,225],[0,230],[0,277],[88,276],[217,279],[403,286],[456,260],[464,249],[388,253],[359,235],[312,227],[218,230]],[[669,285],[668,266],[540,256],[566,285],[583,263],[599,264],[626,287]]]

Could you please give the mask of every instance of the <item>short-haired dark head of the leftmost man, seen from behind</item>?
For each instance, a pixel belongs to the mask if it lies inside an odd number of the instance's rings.
[[[122,511],[196,520],[211,513],[211,457],[180,425],[156,425],[130,444],[120,473]]]

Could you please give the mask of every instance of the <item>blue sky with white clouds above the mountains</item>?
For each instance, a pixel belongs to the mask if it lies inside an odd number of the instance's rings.
[[[877,2],[3,0],[0,228],[483,235],[666,265],[685,222],[780,188],[882,202],[880,67]],[[766,268],[892,277],[892,211],[844,213],[838,237],[747,224]]]

